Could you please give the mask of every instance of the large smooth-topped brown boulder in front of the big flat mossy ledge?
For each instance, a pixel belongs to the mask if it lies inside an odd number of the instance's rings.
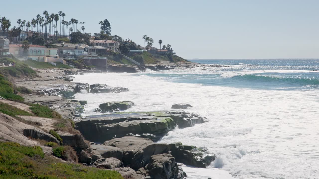
[[[168,144],[153,143],[152,140],[139,137],[122,137],[106,141],[105,145],[121,148],[123,150],[123,164],[135,170],[145,167],[150,157],[169,151]]]

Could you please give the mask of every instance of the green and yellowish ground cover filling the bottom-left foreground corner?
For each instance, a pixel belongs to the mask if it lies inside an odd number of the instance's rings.
[[[11,179],[123,179],[116,171],[61,163],[40,147],[0,142],[0,178]]]

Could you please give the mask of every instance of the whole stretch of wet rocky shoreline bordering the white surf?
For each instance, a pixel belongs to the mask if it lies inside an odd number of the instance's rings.
[[[109,71],[132,73],[145,71],[146,68],[169,70],[194,68],[202,66],[202,64],[161,64],[145,65],[144,67],[111,66],[109,65]],[[39,70],[40,77],[15,80],[16,86],[24,86],[33,90],[33,94],[23,96],[25,102],[48,105],[63,118],[75,121],[75,129],[79,132],[57,131],[57,133],[63,139],[63,145],[74,148],[79,162],[91,167],[116,170],[124,178],[183,179],[186,178],[187,174],[177,162],[205,168],[215,160],[215,155],[209,154],[204,147],[184,146],[182,143],[155,143],[167,132],[177,127],[193,127],[196,124],[206,122],[206,118],[198,114],[179,110],[191,107],[189,104],[175,104],[172,107],[175,109],[172,111],[122,112],[134,105],[134,102],[108,102],[97,106],[99,107],[96,109],[97,115],[82,118],[83,106],[87,102],[74,99],[74,94],[129,91],[125,87],[111,87],[107,84],[72,82],[73,77],[70,75],[83,75],[84,73],[102,73],[102,71]],[[112,113],[104,114],[103,112]],[[4,116],[4,118],[10,117]],[[10,118],[10,120],[15,119]],[[49,122],[48,125],[50,125]],[[45,127],[48,128],[48,126],[41,127],[43,130]],[[28,130],[35,131],[35,129]],[[29,133],[29,136],[35,135],[34,132]],[[50,141],[58,142],[54,136],[44,134],[44,131],[37,133],[47,136],[46,139]]]

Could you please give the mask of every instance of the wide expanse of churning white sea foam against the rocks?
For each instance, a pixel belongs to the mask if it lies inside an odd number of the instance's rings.
[[[256,70],[242,73],[256,73]],[[217,155],[209,168],[184,167],[189,179],[229,179],[232,178],[229,173],[249,179],[319,178],[319,97],[316,90],[204,86],[127,73],[76,75],[74,81],[130,89],[122,93],[76,94],[76,99],[88,102],[84,116],[95,115],[93,111],[100,103],[132,100],[136,105],[127,111],[170,110],[172,104],[187,103],[194,107],[186,111],[207,117],[209,122],[176,129],[160,141],[207,147],[210,153]]]

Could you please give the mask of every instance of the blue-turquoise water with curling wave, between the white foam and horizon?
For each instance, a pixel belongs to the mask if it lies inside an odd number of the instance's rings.
[[[147,73],[171,82],[200,83],[250,89],[319,89],[319,59],[190,60],[223,67],[196,67]]]

